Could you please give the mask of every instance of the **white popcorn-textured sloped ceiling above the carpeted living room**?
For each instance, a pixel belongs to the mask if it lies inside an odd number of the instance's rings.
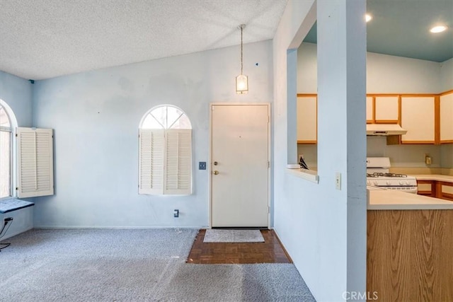
[[[24,79],[272,39],[287,0],[0,0],[0,70]]]

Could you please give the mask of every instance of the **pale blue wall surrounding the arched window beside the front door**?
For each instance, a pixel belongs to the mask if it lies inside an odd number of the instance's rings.
[[[55,129],[55,195],[35,198],[35,226],[208,226],[208,174],[197,163],[209,159],[209,103],[273,98],[272,42],[243,53],[247,95],[234,86],[239,46],[35,82],[35,124]],[[160,104],[182,108],[193,125],[190,196],[137,194],[139,122]]]

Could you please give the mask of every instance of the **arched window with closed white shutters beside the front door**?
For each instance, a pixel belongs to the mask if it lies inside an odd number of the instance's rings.
[[[172,105],[151,108],[139,124],[139,194],[191,194],[192,126]]]

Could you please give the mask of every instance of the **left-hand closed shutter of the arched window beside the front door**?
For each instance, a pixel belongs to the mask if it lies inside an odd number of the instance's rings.
[[[164,194],[164,129],[140,129],[139,194]]]

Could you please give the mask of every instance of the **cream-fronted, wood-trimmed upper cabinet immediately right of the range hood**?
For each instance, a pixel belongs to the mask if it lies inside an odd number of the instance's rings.
[[[403,144],[435,144],[435,96],[401,96]]]

